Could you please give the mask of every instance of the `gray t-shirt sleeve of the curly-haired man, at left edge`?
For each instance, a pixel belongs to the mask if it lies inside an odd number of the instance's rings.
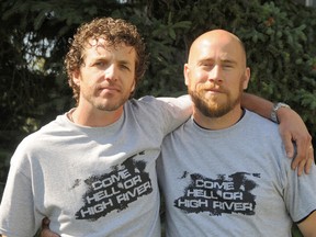
[[[34,236],[40,227],[35,226],[33,189],[31,179],[26,176],[27,170],[30,170],[30,166],[27,166],[25,153],[20,145],[11,159],[0,205],[0,233],[3,235]]]

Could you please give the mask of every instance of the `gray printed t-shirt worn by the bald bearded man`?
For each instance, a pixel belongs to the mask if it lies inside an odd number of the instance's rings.
[[[168,135],[158,159],[168,237],[291,236],[316,210],[316,169],[297,177],[278,125],[246,111],[221,131],[191,119]]]

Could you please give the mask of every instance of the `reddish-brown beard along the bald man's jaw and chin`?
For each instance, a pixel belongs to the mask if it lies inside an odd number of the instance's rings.
[[[241,90],[242,92],[242,90]],[[229,94],[227,94],[228,101],[225,104],[217,104],[217,106],[211,106],[207,100],[203,100],[203,95],[199,94],[199,92],[194,92],[189,90],[189,94],[195,105],[195,108],[207,117],[221,117],[232,111],[241,100],[241,93],[235,100],[232,99]]]

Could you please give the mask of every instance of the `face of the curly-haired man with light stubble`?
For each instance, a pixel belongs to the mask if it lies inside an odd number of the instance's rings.
[[[89,41],[83,64],[74,74],[81,103],[102,111],[122,109],[135,89],[136,53],[124,44],[108,46],[103,38]]]

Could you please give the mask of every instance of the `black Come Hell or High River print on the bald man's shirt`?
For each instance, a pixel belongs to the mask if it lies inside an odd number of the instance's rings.
[[[260,174],[236,172],[210,179],[194,173],[190,178],[191,183],[184,189],[184,195],[174,200],[174,206],[184,213],[255,215],[256,195],[251,190],[257,187],[253,178],[260,178]]]

